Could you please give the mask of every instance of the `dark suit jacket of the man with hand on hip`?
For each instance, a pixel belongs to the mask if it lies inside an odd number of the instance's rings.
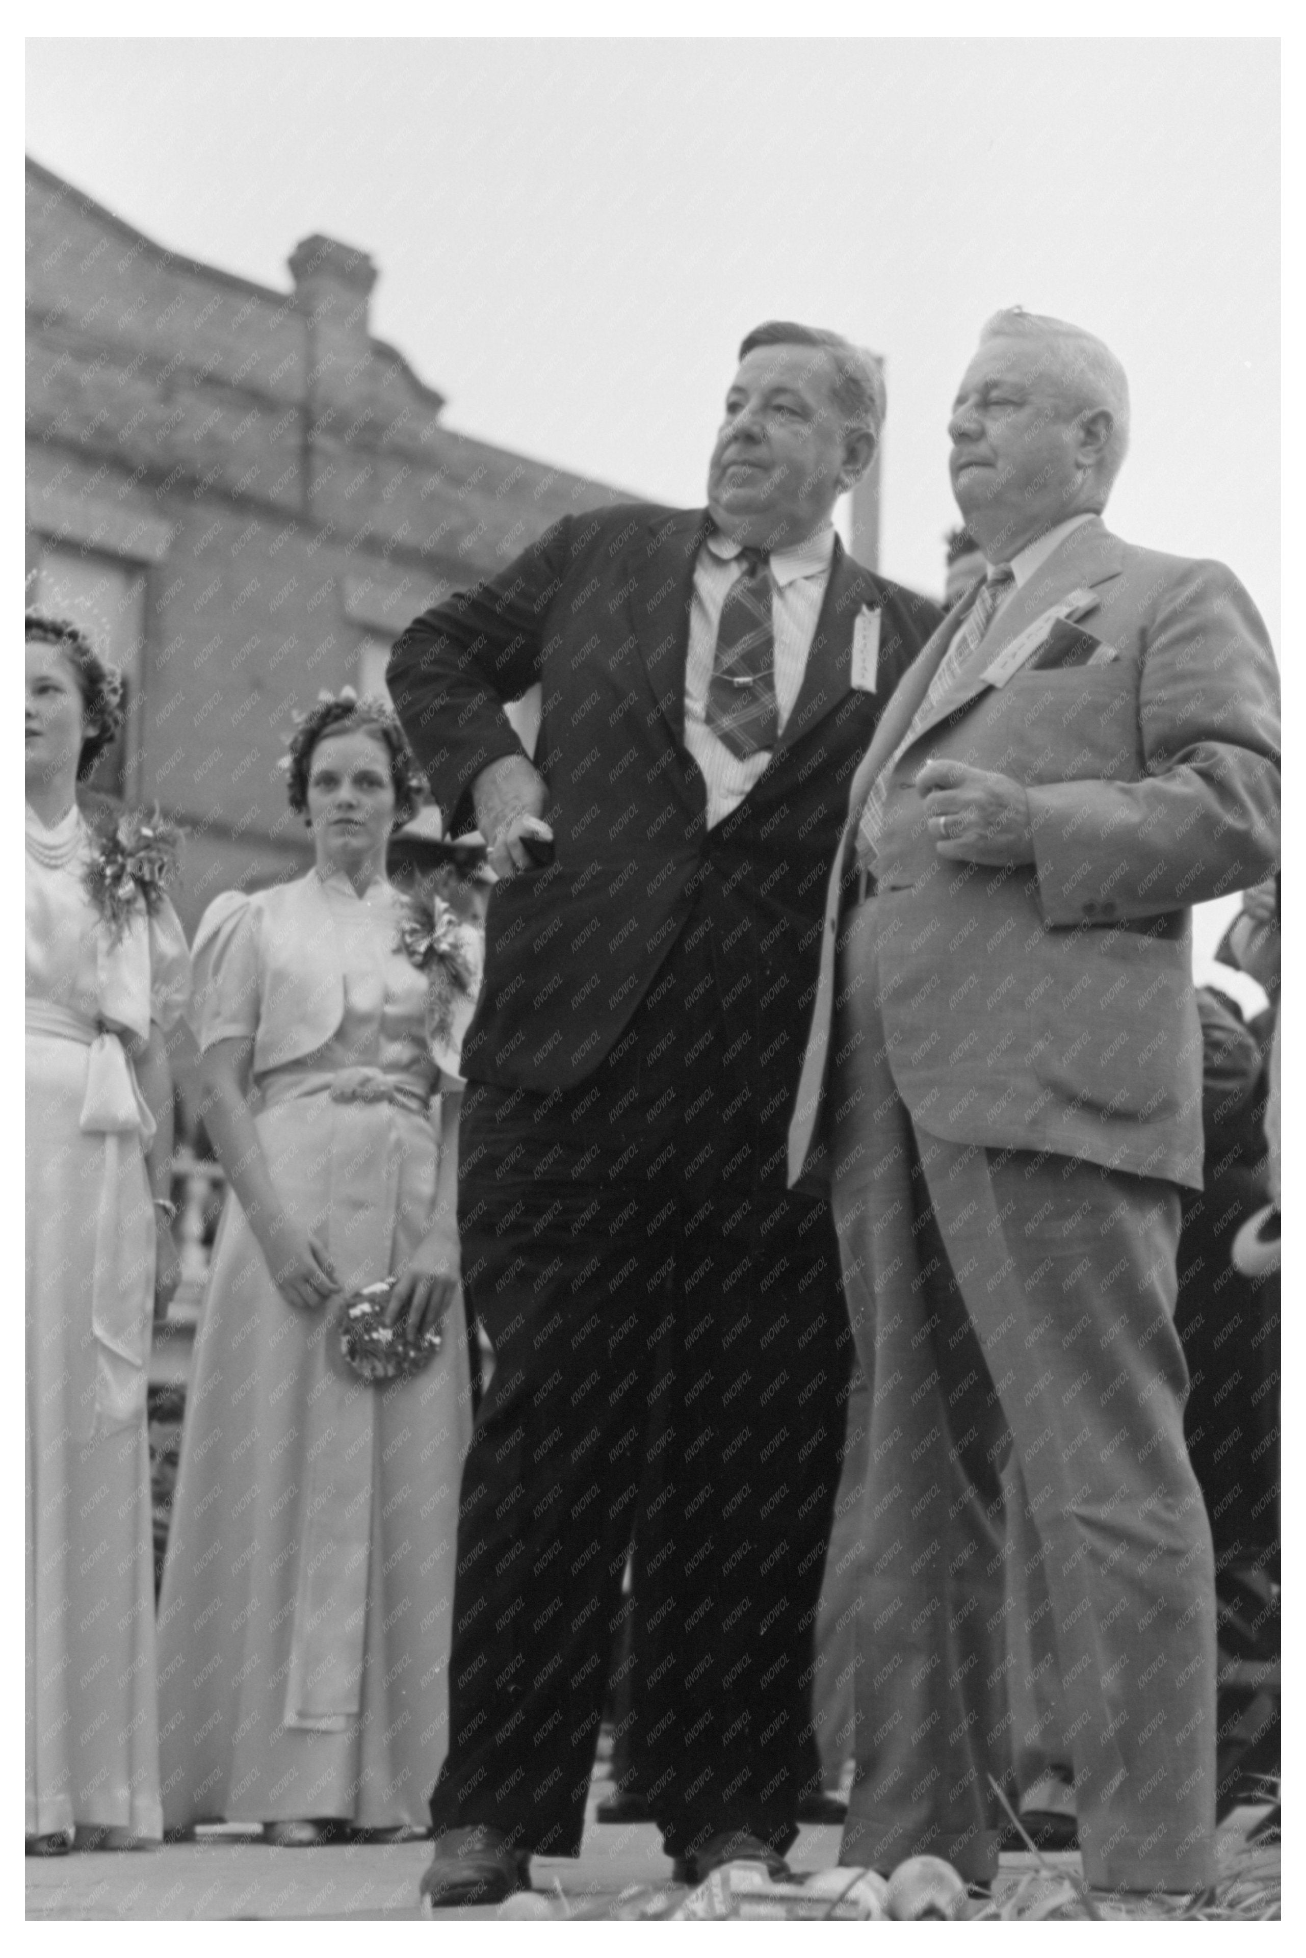
[[[415,619],[394,648],[390,691],[454,820],[480,769],[521,752],[501,703],[542,683],[535,766],[556,860],[490,901],[486,983],[462,1049],[474,1081],[552,1089],[591,1073],[705,885],[730,1042],[752,1044],[787,1087],[797,1077],[848,783],[940,613],[836,544],[783,736],[752,793],[709,830],[703,775],[683,746],[707,529],[707,511],[646,503],[564,517],[499,576]],[[873,693],[852,687],[862,607],[881,613]],[[781,1055],[793,1065],[781,1069]]]

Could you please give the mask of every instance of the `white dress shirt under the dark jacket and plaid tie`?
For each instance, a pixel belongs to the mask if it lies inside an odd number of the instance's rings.
[[[719,531],[701,544],[693,568],[693,603],[689,609],[689,654],[685,660],[685,748],[703,771],[707,783],[707,826],[723,822],[744,801],[758,781],[771,750],[736,756],[707,724],[707,693],[713,683],[717,627],[730,585],[740,576],[736,558],[742,544]],[[824,525],[789,550],[773,550],[771,564],[771,634],[775,640],[775,711],[783,734],[785,721],[807,672],[807,654],[816,632],[816,619],[830,582],[834,556],[834,525]]]

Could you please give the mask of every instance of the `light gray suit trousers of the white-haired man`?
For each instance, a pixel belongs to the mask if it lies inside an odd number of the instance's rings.
[[[997,1868],[1012,1655],[1055,1668],[1085,1874],[1214,1876],[1210,1527],[1183,1441],[1179,1190],[916,1130],[879,999],[881,899],[850,920],[834,1220],[873,1376],[858,1776],[842,1860]],[[1024,1623],[1008,1637],[1012,1611]],[[1028,1703],[1028,1682],[1022,1700]]]

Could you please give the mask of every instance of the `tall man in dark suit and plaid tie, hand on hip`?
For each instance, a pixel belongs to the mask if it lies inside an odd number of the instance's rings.
[[[709,507],[566,517],[417,619],[390,687],[503,875],[464,1044],[464,1474],[433,1903],[578,1854],[638,1523],[646,1795],[683,1876],[783,1868],[848,1326],[785,1124],[848,779],[932,605],[838,544],[883,415],[838,335],[748,335]],[[503,715],[535,681],[535,762]],[[546,818],[546,820],[544,820]],[[548,858],[552,862],[540,862]]]

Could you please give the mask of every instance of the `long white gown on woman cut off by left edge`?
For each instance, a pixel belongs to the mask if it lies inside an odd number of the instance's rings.
[[[27,811],[25,1328],[27,1835],[163,1833],[145,1373],[153,1120],[117,1032],[176,1024],[190,985],[166,905],[116,940],[82,887],[76,811]],[[33,850],[70,850],[45,863]]]

